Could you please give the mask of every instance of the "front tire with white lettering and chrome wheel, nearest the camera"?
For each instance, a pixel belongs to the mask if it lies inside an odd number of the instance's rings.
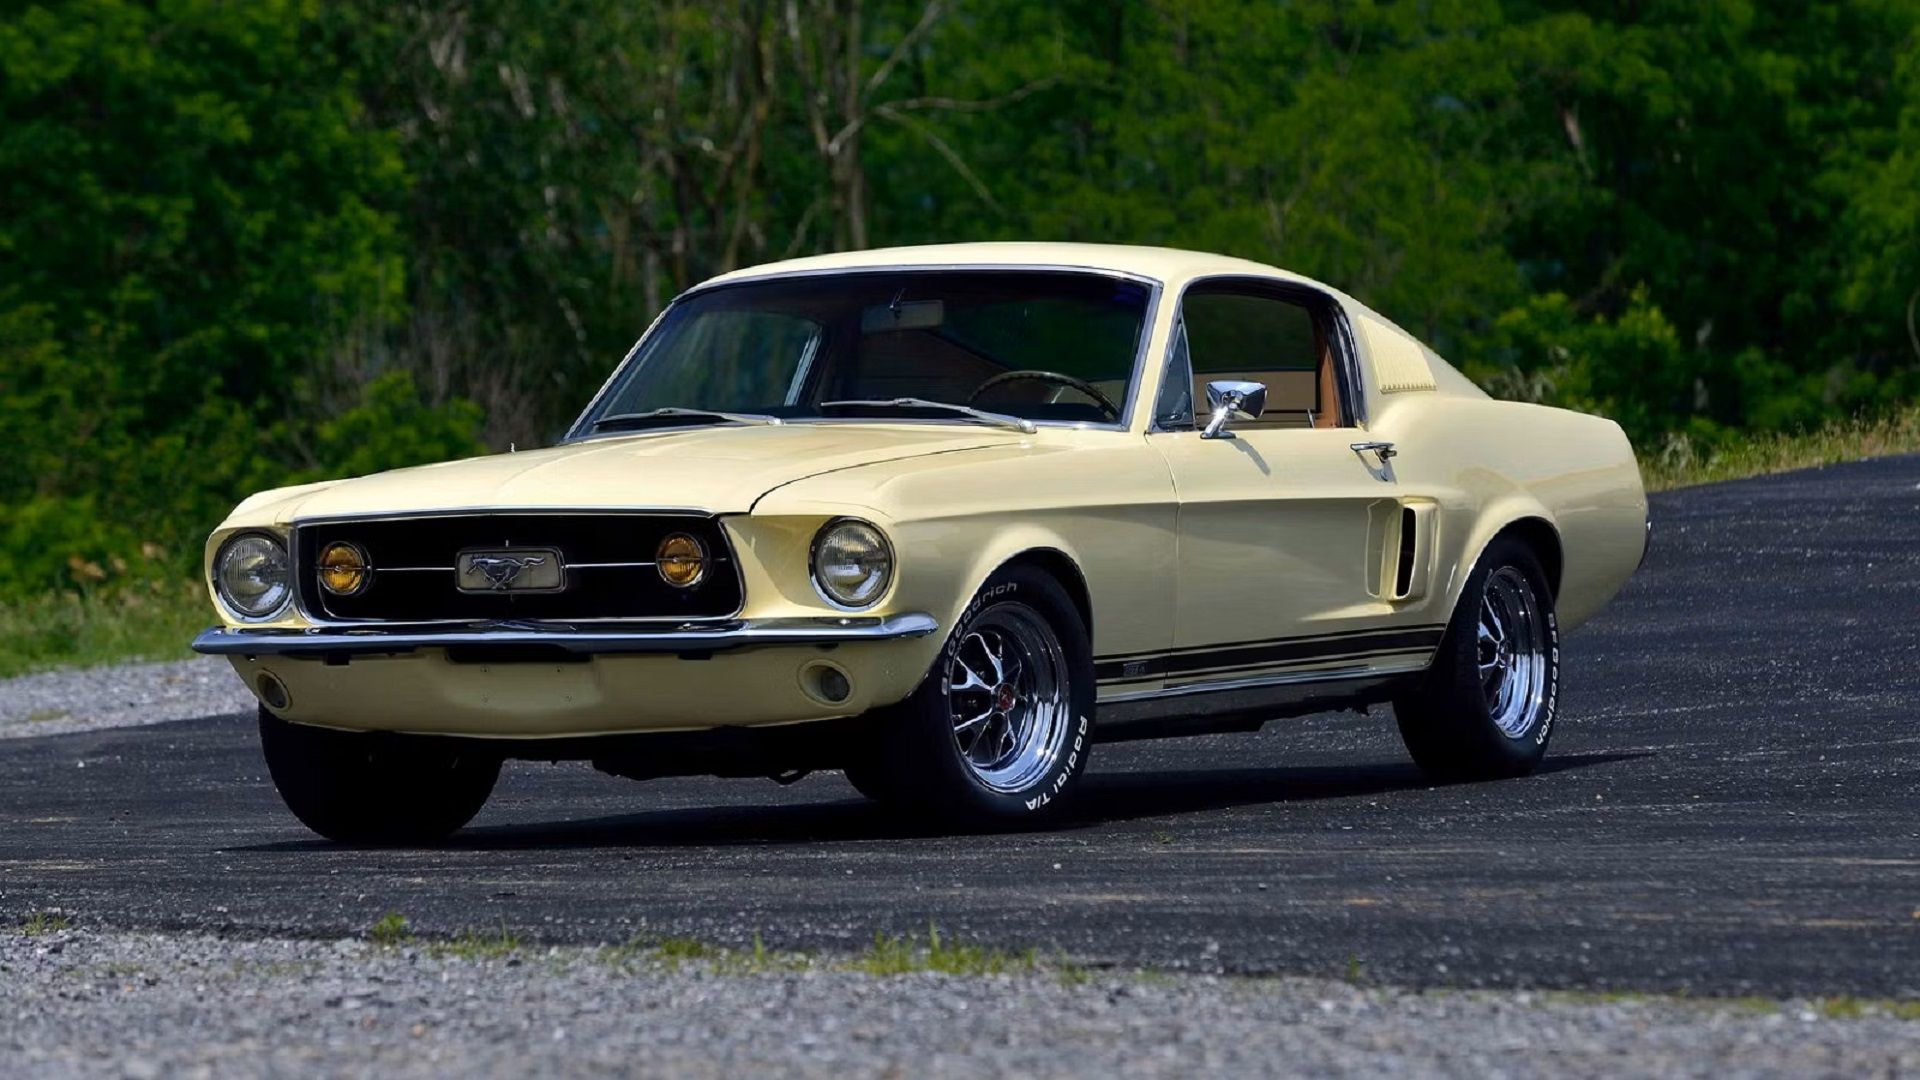
[[[991,688],[964,686],[972,682],[964,671],[989,667],[977,651],[991,648],[989,638],[1006,675]],[[1006,657],[1025,659],[1016,671]],[[1039,567],[1002,567],[960,615],[920,688],[876,713],[876,753],[847,778],[948,824],[1039,824],[1062,813],[1087,771],[1092,705],[1092,644],[1073,600]],[[956,730],[966,726],[956,709],[983,707],[987,721]],[[989,738],[996,742],[981,742]],[[1014,748],[1004,767],[995,757],[1000,746]]]

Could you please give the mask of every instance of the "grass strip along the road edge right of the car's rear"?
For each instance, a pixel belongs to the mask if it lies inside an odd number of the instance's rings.
[[[1807,434],[1755,434],[1715,450],[1699,450],[1674,436],[1661,450],[1642,454],[1640,475],[1647,490],[1661,492],[1916,452],[1920,407],[1908,407],[1880,419],[1834,423]]]

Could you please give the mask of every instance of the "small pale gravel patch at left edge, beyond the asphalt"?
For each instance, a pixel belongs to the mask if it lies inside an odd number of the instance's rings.
[[[90,732],[252,711],[253,696],[219,657],[0,678],[0,738]]]

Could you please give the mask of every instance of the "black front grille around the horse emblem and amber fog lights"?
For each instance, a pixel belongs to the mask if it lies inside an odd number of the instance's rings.
[[[689,532],[710,561],[699,584],[660,580],[660,540]],[[328,544],[359,544],[372,582],[355,596],[321,588],[317,559]],[[461,592],[461,552],[553,548],[566,567],[559,592]],[[324,521],[294,528],[307,611],[323,619],[434,623],[486,619],[712,619],[739,611],[739,573],[720,523],[668,513],[463,513],[409,519]]]

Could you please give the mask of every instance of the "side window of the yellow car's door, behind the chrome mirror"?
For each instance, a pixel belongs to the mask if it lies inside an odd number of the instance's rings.
[[[1200,284],[1187,292],[1181,323],[1194,409],[1206,409],[1208,382],[1244,379],[1267,386],[1267,411],[1235,427],[1340,427],[1327,319],[1309,304],[1244,284]]]

